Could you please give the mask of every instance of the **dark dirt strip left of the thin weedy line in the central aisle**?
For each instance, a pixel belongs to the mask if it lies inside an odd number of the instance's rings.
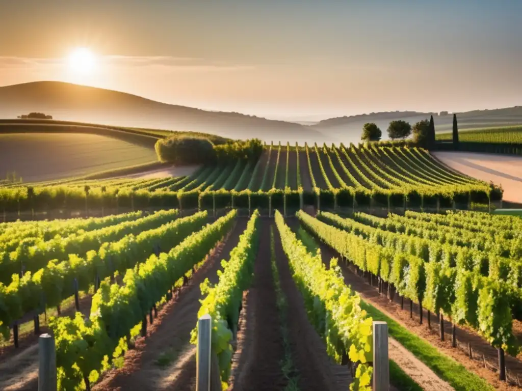
[[[263,219],[259,233],[254,279],[245,295],[243,320],[238,333],[238,354],[234,355],[234,376],[229,390],[283,390],[281,371],[284,357],[277,295],[270,263],[270,221]]]

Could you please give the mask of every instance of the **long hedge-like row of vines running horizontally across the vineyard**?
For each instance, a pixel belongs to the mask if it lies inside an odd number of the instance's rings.
[[[30,211],[43,212],[50,210],[85,210],[107,208],[146,207],[179,207],[181,209],[223,209],[228,207],[248,208],[251,210],[300,209],[303,205],[319,206],[320,209],[335,209],[335,207],[453,207],[467,209],[469,202],[488,204],[502,198],[502,193],[494,189],[490,194],[485,190],[458,192],[453,194],[420,194],[417,191],[409,193],[370,192],[368,189],[334,189],[303,191],[271,189],[270,191],[250,190],[216,190],[216,191],[147,191],[118,189],[107,187],[78,188],[68,186],[18,187],[0,188],[0,213]],[[354,202],[355,199],[355,202]],[[214,204],[215,203],[215,204]]]

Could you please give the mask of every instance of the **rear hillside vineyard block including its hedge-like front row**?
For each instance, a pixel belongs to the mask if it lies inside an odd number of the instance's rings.
[[[0,212],[107,209],[112,213],[146,207],[182,210],[240,209],[305,205],[381,207],[390,211],[489,204],[502,198],[492,184],[462,175],[427,151],[399,146],[269,145],[257,162],[237,160],[202,166],[193,175],[160,179],[61,181],[0,184]],[[15,215],[16,217],[16,215]]]

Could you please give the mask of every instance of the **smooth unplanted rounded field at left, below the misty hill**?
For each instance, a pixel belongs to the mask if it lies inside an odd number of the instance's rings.
[[[97,135],[0,135],[0,178],[15,171],[25,182],[60,179],[156,160],[153,149]]]

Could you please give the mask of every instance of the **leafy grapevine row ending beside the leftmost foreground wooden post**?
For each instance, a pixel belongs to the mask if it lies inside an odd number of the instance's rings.
[[[235,221],[231,211],[174,247],[168,254],[151,255],[143,264],[127,270],[124,285],[108,280],[92,298],[91,316],[59,317],[51,321],[56,341],[58,389],[88,387],[111,363],[117,363],[127,343],[146,325],[146,315],[177,280],[205,259]],[[143,332],[143,329],[142,329]],[[107,361],[106,357],[109,357]]]

